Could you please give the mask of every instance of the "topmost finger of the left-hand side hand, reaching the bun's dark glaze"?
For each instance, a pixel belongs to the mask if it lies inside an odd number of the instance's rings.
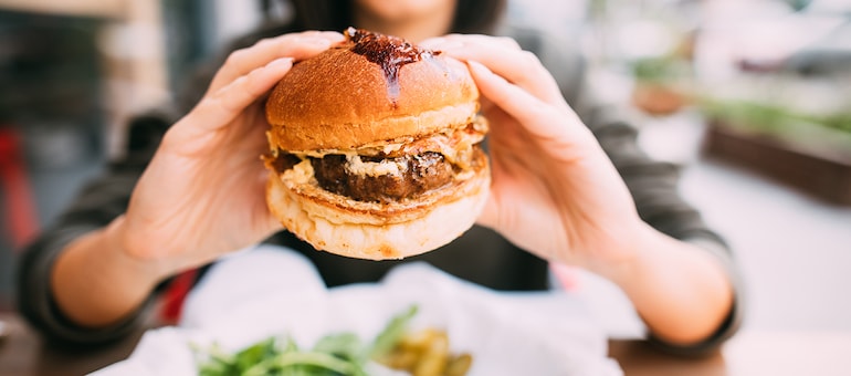
[[[238,77],[249,74],[259,66],[281,58],[296,61],[308,59],[332,45],[342,42],[343,34],[330,31],[308,31],[264,39],[254,45],[237,50],[228,55],[224,64],[210,83],[209,93],[228,85]]]

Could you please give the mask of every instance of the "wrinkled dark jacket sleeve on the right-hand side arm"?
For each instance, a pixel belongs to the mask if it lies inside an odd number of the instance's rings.
[[[641,219],[665,234],[706,250],[727,270],[736,300],[733,311],[714,335],[693,346],[680,346],[649,334],[651,341],[672,353],[701,354],[717,348],[739,327],[744,289],[727,243],[706,226],[695,207],[680,195],[680,166],[650,158],[639,147],[638,129],[624,122],[624,112],[593,97],[586,77],[586,62],[576,52],[580,51],[578,42],[559,40],[527,29],[509,28],[507,33],[525,50],[534,52],[550,71],[567,102],[593,132],[623,178]]]

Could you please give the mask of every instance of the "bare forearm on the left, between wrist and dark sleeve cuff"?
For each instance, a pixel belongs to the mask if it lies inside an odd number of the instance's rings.
[[[104,327],[132,314],[164,276],[160,268],[134,259],[118,239],[124,218],[70,243],[50,275],[53,299],[65,317]]]

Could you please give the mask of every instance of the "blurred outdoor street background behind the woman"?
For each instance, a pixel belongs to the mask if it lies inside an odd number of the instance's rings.
[[[21,246],[120,153],[126,119],[267,6],[0,0],[0,310]],[[581,41],[597,95],[681,166],[736,251],[745,328],[851,331],[851,1],[509,0],[507,18]],[[578,291],[635,333],[612,286]]]

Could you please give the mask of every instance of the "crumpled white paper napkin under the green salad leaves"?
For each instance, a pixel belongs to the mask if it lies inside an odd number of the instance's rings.
[[[399,267],[380,283],[326,289],[308,260],[272,246],[217,264],[178,326],[148,331],[126,361],[94,375],[195,375],[190,344],[238,351],[290,335],[311,347],[335,332],[369,341],[412,304],[414,328],[443,328],[452,352],[473,356],[471,376],[622,375],[606,355],[606,334],[569,293],[495,292],[426,263]]]

